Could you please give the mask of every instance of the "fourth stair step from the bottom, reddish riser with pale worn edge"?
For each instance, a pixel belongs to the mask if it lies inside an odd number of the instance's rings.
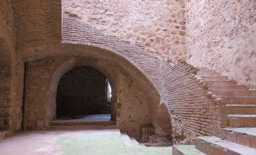
[[[253,128],[256,127],[256,115],[228,114],[229,127]]]

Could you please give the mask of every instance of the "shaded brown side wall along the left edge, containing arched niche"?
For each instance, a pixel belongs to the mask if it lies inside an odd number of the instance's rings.
[[[22,127],[24,64],[15,53],[16,30],[9,0],[0,2],[0,130]]]

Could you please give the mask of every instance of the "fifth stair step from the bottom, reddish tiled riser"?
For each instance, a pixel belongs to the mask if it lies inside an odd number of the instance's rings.
[[[228,114],[256,115],[256,105],[232,105],[227,104]]]

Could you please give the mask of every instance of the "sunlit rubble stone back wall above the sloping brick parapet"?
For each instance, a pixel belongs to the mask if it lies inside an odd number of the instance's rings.
[[[185,0],[63,0],[63,10],[88,26],[131,43],[159,58],[187,56]]]

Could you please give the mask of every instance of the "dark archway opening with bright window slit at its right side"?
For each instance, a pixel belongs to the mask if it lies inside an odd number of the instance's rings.
[[[110,90],[106,76],[93,67],[79,66],[69,70],[57,86],[57,119],[110,121]]]

